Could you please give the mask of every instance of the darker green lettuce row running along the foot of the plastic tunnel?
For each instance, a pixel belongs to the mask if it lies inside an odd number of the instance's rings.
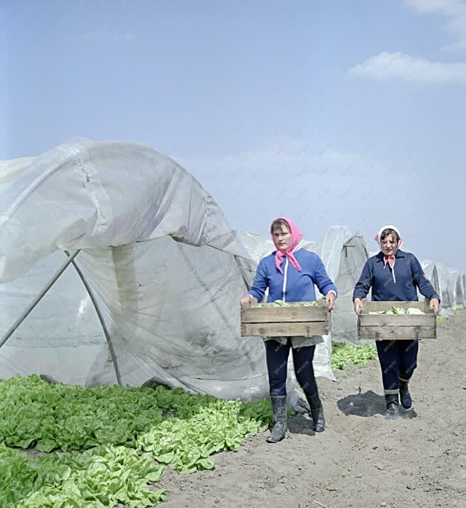
[[[225,422],[222,414],[229,414],[232,407],[236,412]],[[258,418],[249,415],[251,420],[245,429],[242,422],[234,420],[243,407],[247,407],[243,402],[232,405],[209,395],[187,394],[181,388],[84,389],[54,385],[35,375],[17,376],[0,380],[0,442],[44,452],[89,449],[99,444],[138,449],[140,437],[148,432],[169,436],[172,428],[191,429],[197,425],[199,412],[209,409],[214,410],[213,418],[229,425],[235,435],[268,425],[270,416],[266,417],[259,409]],[[218,446],[217,441],[215,445]]]

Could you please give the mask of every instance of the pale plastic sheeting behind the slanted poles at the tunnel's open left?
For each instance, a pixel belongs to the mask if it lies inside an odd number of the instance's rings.
[[[64,253],[51,254],[20,279],[0,284],[0,336],[64,260]],[[97,365],[102,352],[105,360]],[[76,270],[69,266],[1,347],[0,377],[37,373],[73,384],[91,385],[104,370],[108,357],[104,333],[89,295]],[[116,382],[114,372],[111,382]]]

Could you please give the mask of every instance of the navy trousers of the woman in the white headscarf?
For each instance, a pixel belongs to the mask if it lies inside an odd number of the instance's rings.
[[[385,394],[398,393],[400,380],[409,381],[417,367],[417,340],[377,340]]]

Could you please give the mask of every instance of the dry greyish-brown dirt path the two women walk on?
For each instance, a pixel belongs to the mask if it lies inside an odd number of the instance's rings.
[[[413,410],[388,420],[377,360],[337,382],[318,381],[327,428],[314,435],[306,417],[291,435],[267,434],[238,452],[217,454],[216,469],[167,470],[166,508],[464,507],[466,506],[466,310],[420,347]]]

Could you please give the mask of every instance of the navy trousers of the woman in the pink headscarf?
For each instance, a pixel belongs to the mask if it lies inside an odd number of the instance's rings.
[[[267,357],[267,371],[269,372],[270,397],[287,395],[287,363],[291,340],[287,344],[280,344],[276,340],[266,340],[265,350]],[[306,395],[317,392],[314,379],[315,346],[292,347],[294,372],[296,378]]]

